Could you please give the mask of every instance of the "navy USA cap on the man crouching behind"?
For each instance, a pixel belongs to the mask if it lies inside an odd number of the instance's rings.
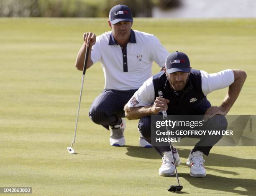
[[[130,8],[126,5],[115,5],[109,12],[109,20],[112,25],[120,21],[133,22],[133,15]]]

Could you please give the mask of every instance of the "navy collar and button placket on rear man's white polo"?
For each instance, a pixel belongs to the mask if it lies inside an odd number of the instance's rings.
[[[131,35],[129,38],[128,43],[136,43],[135,33],[131,30]],[[108,45],[119,45],[118,42],[115,40],[113,33],[110,34],[110,39]],[[128,62],[127,62],[127,44],[124,47],[121,46],[122,53],[123,53],[123,72],[128,72]]]

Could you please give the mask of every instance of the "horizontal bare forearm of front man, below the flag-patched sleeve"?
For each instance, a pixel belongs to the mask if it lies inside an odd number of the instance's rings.
[[[140,119],[144,116],[150,116],[153,114],[152,106],[143,106],[143,107],[135,107],[135,108],[128,108],[125,105],[125,116],[129,120]]]

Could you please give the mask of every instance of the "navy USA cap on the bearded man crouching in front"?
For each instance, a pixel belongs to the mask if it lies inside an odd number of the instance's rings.
[[[174,52],[167,56],[165,60],[166,73],[174,73],[177,71],[190,72],[189,58],[185,53]]]

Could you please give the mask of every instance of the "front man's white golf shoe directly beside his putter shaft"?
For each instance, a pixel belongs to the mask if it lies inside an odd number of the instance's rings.
[[[181,161],[179,158],[179,154],[176,150],[176,148],[173,148],[173,156],[176,160],[176,166],[179,166]],[[172,158],[172,152],[164,152],[164,156],[162,158],[162,165],[159,168],[159,175],[160,176],[172,176],[175,173],[175,166],[174,166],[174,160]]]

